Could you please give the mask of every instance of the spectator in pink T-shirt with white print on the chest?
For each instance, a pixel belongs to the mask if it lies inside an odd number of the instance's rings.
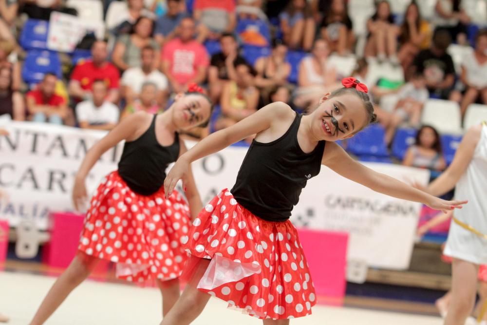
[[[178,38],[170,40],[162,52],[162,71],[168,77],[174,92],[184,92],[189,83],[202,83],[209,65],[203,45],[194,39],[195,24],[184,18],[179,24]]]

